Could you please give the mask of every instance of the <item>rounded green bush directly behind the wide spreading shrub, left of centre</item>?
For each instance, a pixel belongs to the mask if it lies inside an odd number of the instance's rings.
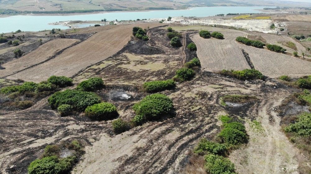
[[[104,87],[104,81],[100,77],[91,77],[87,80],[82,81],[77,86],[79,91],[95,91]]]

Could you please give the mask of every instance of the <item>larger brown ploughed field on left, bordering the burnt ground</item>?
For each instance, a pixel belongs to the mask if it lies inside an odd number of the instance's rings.
[[[80,70],[107,59],[125,46],[132,36],[132,28],[156,27],[162,24],[131,24],[119,25],[117,28],[98,32],[71,48],[65,50],[54,59],[36,67],[17,73],[9,78],[21,78],[23,80],[42,81],[49,76],[73,76]],[[44,71],[42,71],[44,70]]]

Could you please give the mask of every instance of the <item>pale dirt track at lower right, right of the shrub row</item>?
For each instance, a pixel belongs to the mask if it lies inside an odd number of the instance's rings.
[[[299,174],[296,155],[299,151],[281,132],[280,117],[273,108],[280,105],[288,95],[286,91],[271,93],[258,106],[256,126],[250,120],[246,121],[249,142],[245,147],[230,154],[230,159],[239,173]],[[249,114],[256,114],[250,111]]]

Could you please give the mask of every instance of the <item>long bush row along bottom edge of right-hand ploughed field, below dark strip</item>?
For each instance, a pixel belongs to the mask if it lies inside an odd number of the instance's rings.
[[[240,80],[253,80],[253,79],[263,79],[263,75],[261,72],[255,69],[244,69],[241,71],[236,71],[236,70],[221,70],[220,71],[221,75],[224,76],[231,76],[238,78]]]

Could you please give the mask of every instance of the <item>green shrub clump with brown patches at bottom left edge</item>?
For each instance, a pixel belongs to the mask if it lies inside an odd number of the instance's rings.
[[[71,150],[73,153],[67,157],[61,157],[63,149]],[[44,154],[39,159],[34,160],[28,166],[28,174],[63,174],[69,173],[84,153],[81,143],[73,140],[70,143],[59,145],[48,145],[44,149]]]

